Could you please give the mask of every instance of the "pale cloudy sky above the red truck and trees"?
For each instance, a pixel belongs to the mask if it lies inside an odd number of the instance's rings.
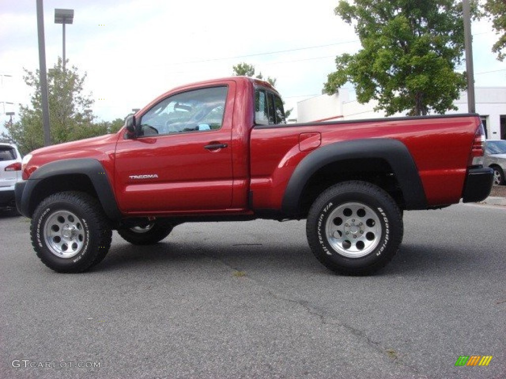
[[[226,77],[246,62],[267,77],[285,108],[321,93],[336,55],[354,54],[353,27],[334,15],[338,0],[294,5],[289,0],[44,0],[46,63],[62,56],[55,8],[73,9],[66,58],[87,74],[85,92],[97,120],[124,118],[185,83]],[[491,52],[497,39],[487,20],[474,22],[476,86],[506,86],[506,62]],[[36,0],[0,0],[0,121],[18,115],[32,90],[24,71],[39,68]],[[461,68],[465,69],[464,67]],[[13,104],[9,104],[13,103]]]

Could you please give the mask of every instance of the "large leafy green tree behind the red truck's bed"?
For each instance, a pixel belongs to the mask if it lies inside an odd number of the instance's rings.
[[[476,15],[476,3],[472,9]],[[459,0],[341,0],[335,14],[355,24],[362,49],[336,57],[326,93],[351,82],[360,103],[377,100],[375,110],[387,115],[455,109],[466,88],[465,74],[454,71],[464,49]]]

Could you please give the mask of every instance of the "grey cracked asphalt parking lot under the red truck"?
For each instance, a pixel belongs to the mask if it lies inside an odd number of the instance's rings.
[[[92,272],[0,216],[0,378],[506,377],[505,207],[406,212],[379,274],[334,275],[305,223],[184,224]],[[459,356],[488,366],[455,366]]]

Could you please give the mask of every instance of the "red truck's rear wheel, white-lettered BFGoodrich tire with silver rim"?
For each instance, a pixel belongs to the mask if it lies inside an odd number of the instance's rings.
[[[306,233],[318,260],[330,270],[371,274],[397,253],[402,215],[382,188],[346,181],[326,189],[309,211]]]

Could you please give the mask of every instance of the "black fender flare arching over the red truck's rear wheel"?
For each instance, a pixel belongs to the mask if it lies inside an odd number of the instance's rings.
[[[304,187],[320,168],[350,159],[385,160],[399,182],[406,209],[427,209],[424,187],[408,148],[397,139],[368,138],[336,142],[307,155],[288,181],[281,204],[283,214],[289,216],[299,214]]]

